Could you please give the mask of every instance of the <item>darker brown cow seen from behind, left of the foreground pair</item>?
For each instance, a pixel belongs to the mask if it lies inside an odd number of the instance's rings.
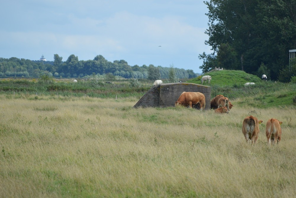
[[[242,123],[242,133],[244,134],[247,142],[251,140],[252,144],[256,143],[258,139],[258,134],[260,132],[259,124],[262,122],[262,120],[258,121],[258,119],[256,117],[253,117],[252,115],[244,118],[244,121]]]

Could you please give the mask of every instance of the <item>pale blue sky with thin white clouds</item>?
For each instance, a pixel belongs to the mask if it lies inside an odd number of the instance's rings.
[[[0,57],[62,61],[102,55],[128,65],[192,69],[202,73],[207,6],[202,0],[2,1]],[[161,47],[159,47],[161,46]]]

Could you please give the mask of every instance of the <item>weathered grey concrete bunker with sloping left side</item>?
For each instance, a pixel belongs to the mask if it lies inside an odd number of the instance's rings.
[[[165,83],[153,86],[134,107],[174,107],[179,96],[186,92],[205,95],[205,110],[210,109],[211,87],[194,83]]]

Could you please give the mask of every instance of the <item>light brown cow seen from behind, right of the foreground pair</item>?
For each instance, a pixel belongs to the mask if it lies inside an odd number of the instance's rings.
[[[279,143],[281,141],[281,124],[283,122],[278,121],[277,119],[271,118],[266,122],[266,137],[267,141],[270,144],[271,141]]]

